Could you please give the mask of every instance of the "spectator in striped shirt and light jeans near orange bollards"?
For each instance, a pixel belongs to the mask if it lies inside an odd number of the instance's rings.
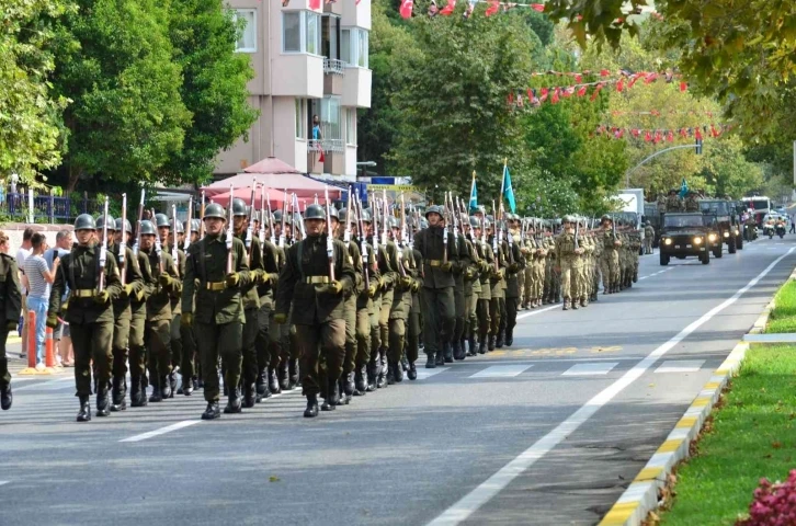
[[[42,233],[34,233],[31,241],[33,251],[25,259],[25,287],[27,288],[27,308],[36,313],[36,369],[44,369],[44,335],[49,307],[49,286],[55,282],[59,259],[53,263],[53,272],[47,267],[44,251],[47,242]]]

